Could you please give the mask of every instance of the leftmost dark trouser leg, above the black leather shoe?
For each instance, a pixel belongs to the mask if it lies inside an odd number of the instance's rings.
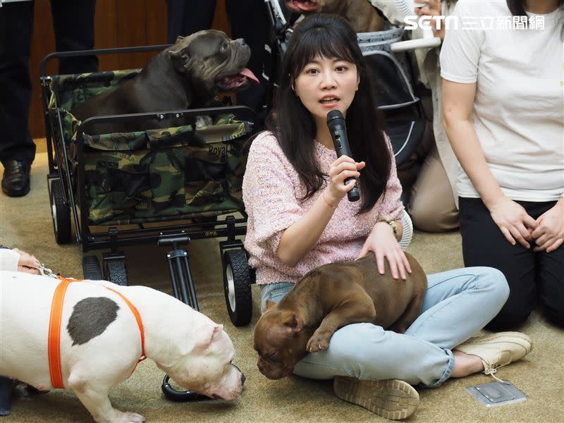
[[[0,8],[0,161],[31,164],[35,144],[28,129],[31,101],[30,44],[33,2]]]

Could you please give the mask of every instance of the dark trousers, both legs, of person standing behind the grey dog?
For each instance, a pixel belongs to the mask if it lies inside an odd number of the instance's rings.
[[[266,102],[266,82],[262,78],[264,44],[268,31],[268,18],[264,0],[226,0],[226,11],[231,23],[233,39],[243,38],[251,49],[247,64],[259,78],[260,85],[252,84],[247,90],[237,93],[237,103],[259,111]],[[190,35],[212,27],[216,0],[168,0],[169,43],[176,42],[178,35]]]

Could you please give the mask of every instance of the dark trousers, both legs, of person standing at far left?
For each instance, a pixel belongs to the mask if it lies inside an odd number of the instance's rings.
[[[30,164],[35,157],[27,118],[30,112],[30,44],[33,1],[5,3],[0,8],[0,161],[16,159]],[[94,47],[95,0],[51,0],[56,51]],[[61,59],[59,73],[96,71],[96,56]]]

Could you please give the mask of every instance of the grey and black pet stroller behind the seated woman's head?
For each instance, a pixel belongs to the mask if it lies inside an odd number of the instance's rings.
[[[276,90],[276,71],[292,36],[294,13],[288,13],[279,0],[266,0],[271,23],[269,42],[265,46],[266,63],[263,78],[268,82],[268,106]],[[415,94],[415,76],[407,53],[393,52],[393,45],[405,39],[403,27],[389,25],[388,30],[357,34],[358,44],[367,60],[374,80],[378,108],[384,114],[386,133],[390,137],[396,166],[400,167],[417,149],[425,130],[424,111]]]

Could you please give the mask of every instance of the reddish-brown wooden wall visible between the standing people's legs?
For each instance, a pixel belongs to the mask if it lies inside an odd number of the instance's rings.
[[[97,49],[166,44],[166,0],[97,0],[94,27],[94,47]],[[212,27],[230,32],[225,0],[217,0]],[[55,51],[55,41],[49,0],[35,0],[35,21],[30,57],[32,80],[30,130],[34,138],[45,136],[40,99],[39,64],[44,56],[53,51]],[[100,56],[100,70],[140,68],[157,53],[158,51]],[[56,75],[57,73],[56,61],[50,61],[46,74]]]

